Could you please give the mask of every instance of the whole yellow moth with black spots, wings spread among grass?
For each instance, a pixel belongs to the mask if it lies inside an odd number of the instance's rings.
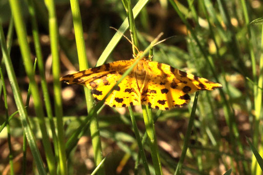
[[[95,100],[102,100],[140,54],[130,60],[114,61],[66,75],[60,81],[85,85],[91,89]],[[144,57],[108,96],[105,104],[111,107],[143,104],[158,110],[170,110],[189,103],[188,94],[216,88],[222,88],[222,85]]]

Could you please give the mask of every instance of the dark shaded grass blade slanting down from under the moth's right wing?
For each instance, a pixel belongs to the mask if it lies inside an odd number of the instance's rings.
[[[190,142],[190,137],[191,137],[191,131],[192,131],[192,127],[193,127],[193,124],[194,124],[194,117],[195,117],[195,110],[196,110],[196,107],[197,107],[198,94],[199,94],[199,92],[197,91],[195,93],[194,103],[193,103],[193,106],[192,106],[192,112],[191,112],[191,115],[190,115],[190,118],[189,118],[189,123],[188,123],[187,131],[186,131],[186,136],[185,136],[185,140],[184,140],[183,150],[181,152],[181,157],[180,157],[179,162],[177,164],[177,167],[176,167],[176,170],[174,172],[174,175],[181,174],[181,167],[183,166],[183,163],[184,163],[184,160],[185,160],[185,157],[186,157],[186,152],[187,152],[188,144]]]

